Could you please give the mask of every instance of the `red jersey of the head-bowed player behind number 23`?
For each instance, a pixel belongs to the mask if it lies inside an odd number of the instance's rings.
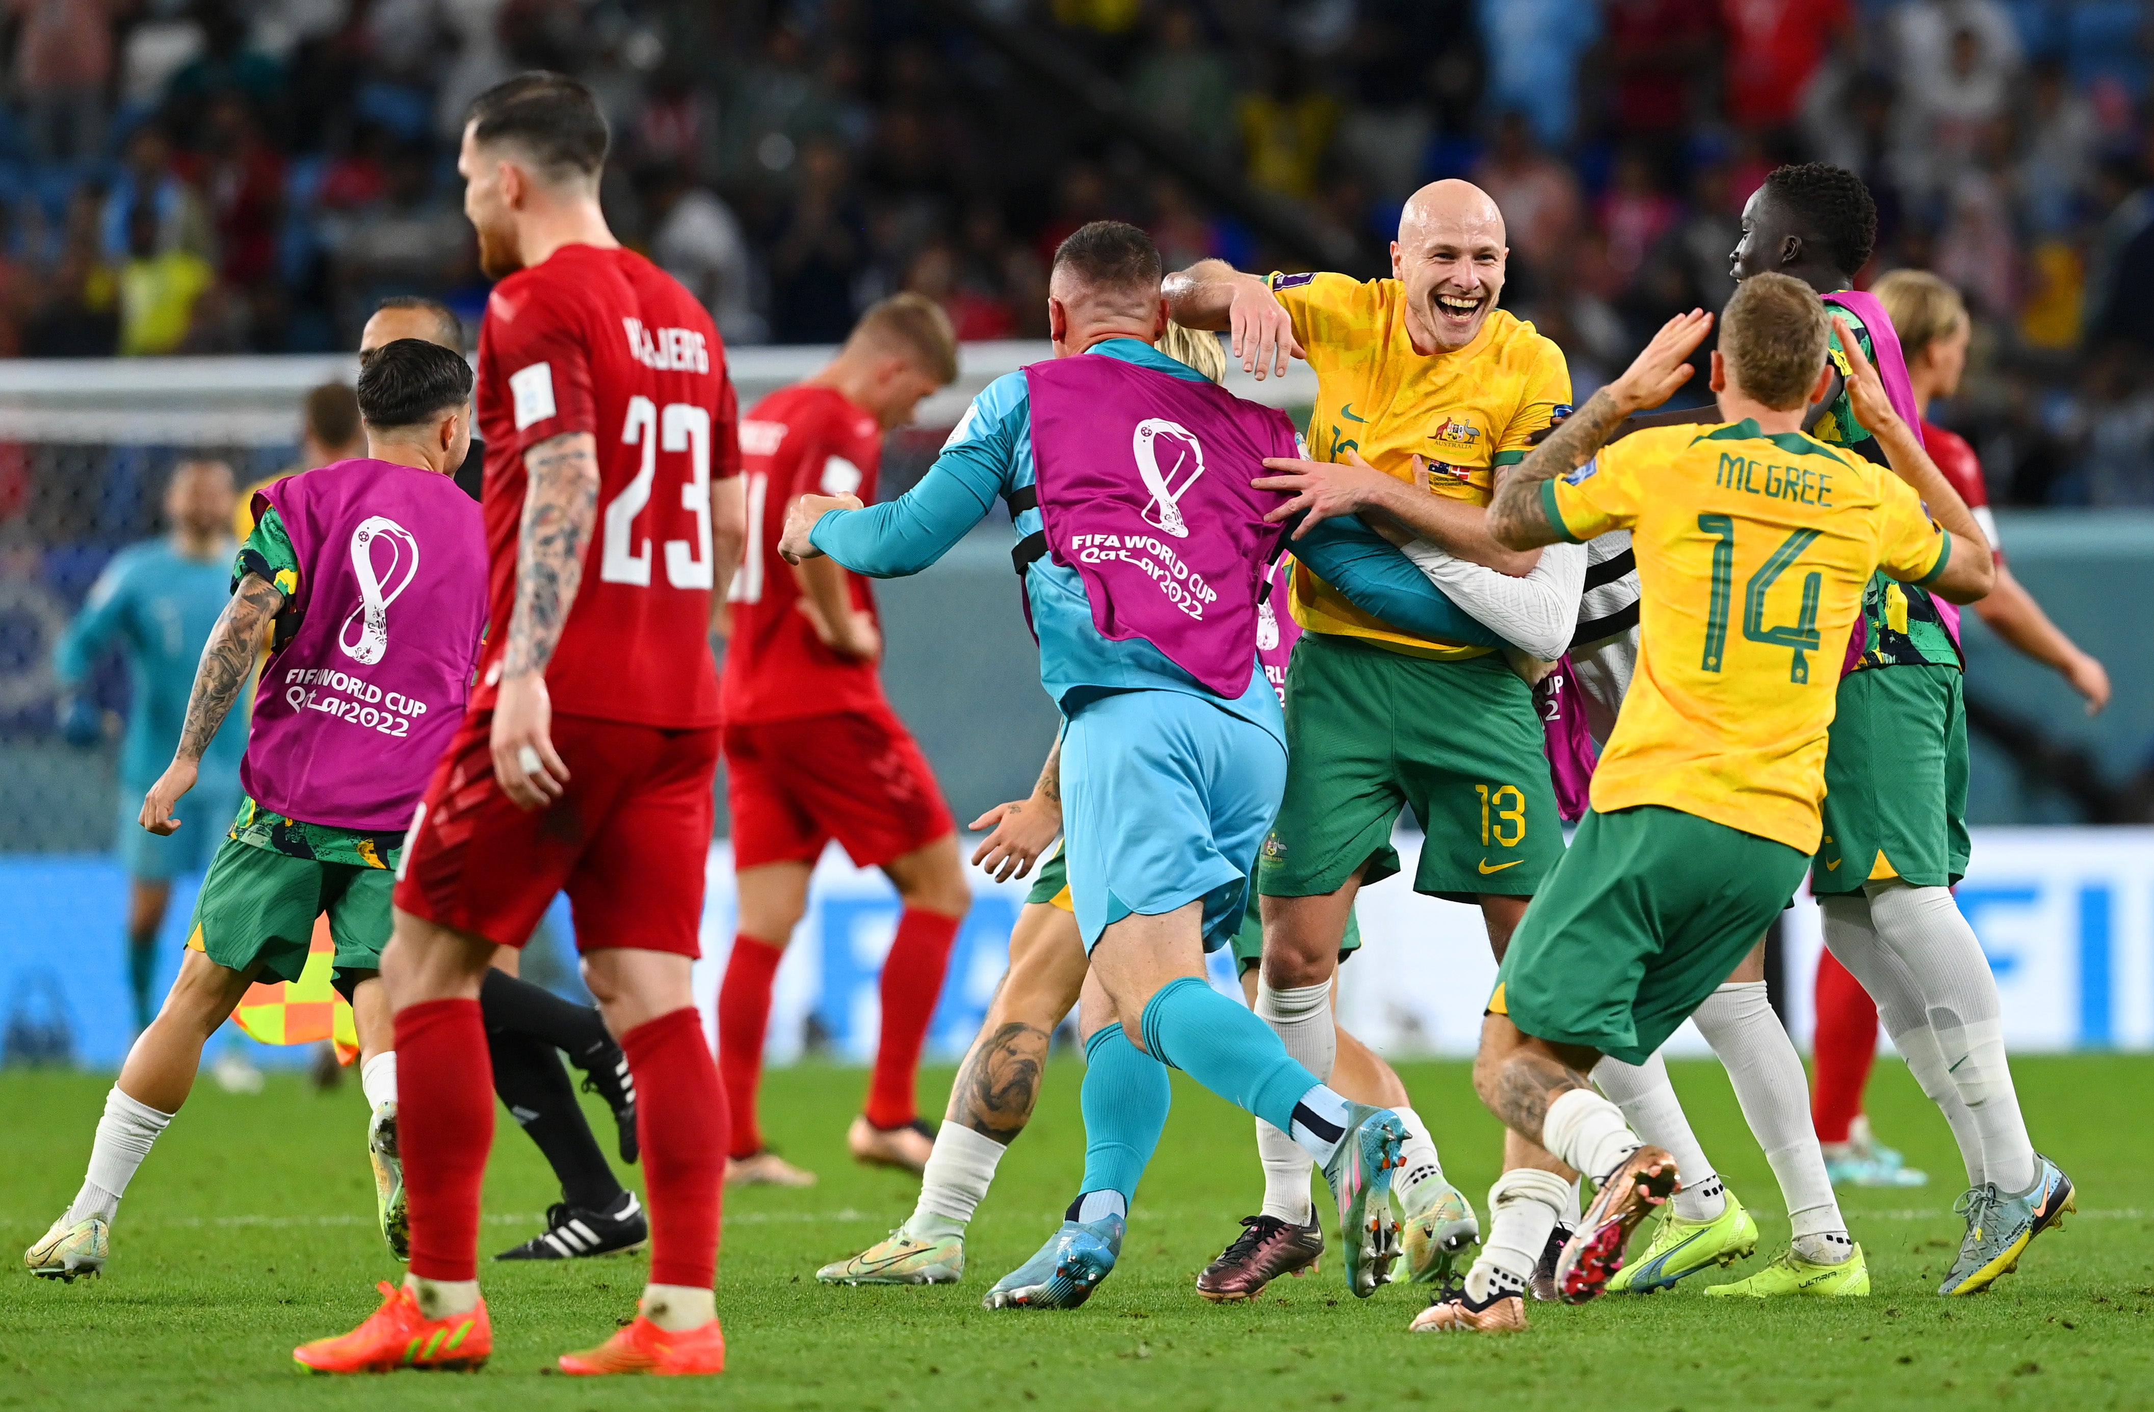
[[[801,495],[875,499],[883,428],[831,387],[801,383],[756,403],[741,420],[747,474],[747,551],[732,581],[732,637],[722,700],[728,723],[793,721],[842,710],[883,710],[875,663],[823,646],[799,611],[801,585],[778,557],[786,508]],[[853,607],[875,611],[875,594],[847,575]]]

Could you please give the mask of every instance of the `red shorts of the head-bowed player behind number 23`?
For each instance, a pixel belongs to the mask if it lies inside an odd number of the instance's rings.
[[[881,867],[956,831],[926,756],[887,706],[726,725],[732,865],[814,863],[838,839]]]

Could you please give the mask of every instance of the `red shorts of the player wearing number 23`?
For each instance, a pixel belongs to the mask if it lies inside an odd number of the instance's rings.
[[[526,814],[493,779],[493,712],[457,728],[411,820],[396,906],[521,947],[560,891],[577,951],[700,956],[717,728],[554,717],[569,790]]]

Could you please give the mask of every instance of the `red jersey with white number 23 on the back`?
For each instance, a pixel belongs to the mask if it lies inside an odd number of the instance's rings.
[[[599,517],[545,682],[556,715],[717,725],[711,480],[741,471],[711,314],[631,250],[564,245],[493,286],[478,331],[489,618],[472,708],[493,706],[517,592],[523,454],[599,441]]]

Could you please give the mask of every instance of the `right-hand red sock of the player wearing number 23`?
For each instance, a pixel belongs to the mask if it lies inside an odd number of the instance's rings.
[[[726,1184],[726,1091],[702,1042],[702,1018],[683,1005],[620,1035],[620,1048],[635,1076],[651,1283],[709,1289],[717,1281],[717,1212]]]

